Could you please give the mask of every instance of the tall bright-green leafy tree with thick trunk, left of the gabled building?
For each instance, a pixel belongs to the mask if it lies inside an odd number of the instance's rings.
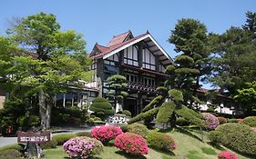
[[[60,31],[55,15],[39,13],[24,17],[8,31],[21,46],[21,53],[13,57],[15,65],[7,70],[9,81],[30,87],[29,94],[37,94],[41,127],[50,127],[53,95],[65,91],[78,79],[88,80],[85,53],[86,42],[74,30]],[[79,59],[79,60],[77,60]]]

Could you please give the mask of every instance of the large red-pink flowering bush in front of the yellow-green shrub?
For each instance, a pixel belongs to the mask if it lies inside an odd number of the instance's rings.
[[[148,145],[146,140],[141,135],[135,133],[118,135],[115,140],[115,146],[132,155],[148,154]]]

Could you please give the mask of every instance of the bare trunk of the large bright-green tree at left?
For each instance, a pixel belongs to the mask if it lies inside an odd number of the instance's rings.
[[[40,88],[39,90],[38,99],[39,99],[39,114],[41,118],[41,128],[42,130],[46,130],[50,128],[51,104],[47,104],[46,95],[42,88]]]

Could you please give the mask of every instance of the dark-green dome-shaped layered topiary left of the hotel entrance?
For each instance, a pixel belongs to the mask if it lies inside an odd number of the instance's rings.
[[[107,99],[102,97],[95,98],[92,101],[92,104],[89,106],[89,110],[93,111],[100,118],[104,118],[106,115],[114,114],[112,104],[110,104]]]

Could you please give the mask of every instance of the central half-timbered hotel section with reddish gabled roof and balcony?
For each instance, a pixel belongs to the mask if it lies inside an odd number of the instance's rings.
[[[156,88],[168,77],[164,70],[172,65],[169,55],[148,32],[136,37],[130,31],[114,36],[107,46],[96,44],[90,56],[94,59],[91,70],[99,96],[108,97],[106,80],[109,76],[126,76],[129,95],[123,109],[133,115],[140,113],[158,94]]]

